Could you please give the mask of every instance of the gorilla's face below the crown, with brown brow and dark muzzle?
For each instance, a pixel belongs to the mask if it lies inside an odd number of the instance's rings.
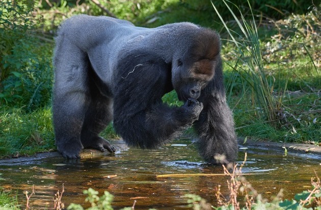
[[[172,83],[178,99],[197,99],[202,89],[213,78],[216,62],[200,59],[195,62],[177,59],[172,63]]]

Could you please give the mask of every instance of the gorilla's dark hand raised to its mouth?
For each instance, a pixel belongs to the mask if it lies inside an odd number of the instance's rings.
[[[186,100],[184,105],[179,109],[179,119],[183,124],[191,126],[203,110],[203,103],[194,98]]]

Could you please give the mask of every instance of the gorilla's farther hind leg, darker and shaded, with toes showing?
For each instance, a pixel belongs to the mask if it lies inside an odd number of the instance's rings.
[[[99,92],[99,91],[97,91]],[[98,95],[90,103],[81,133],[81,141],[85,148],[100,151],[107,149],[115,152],[116,149],[107,140],[99,137],[99,133],[112,121],[112,99]]]

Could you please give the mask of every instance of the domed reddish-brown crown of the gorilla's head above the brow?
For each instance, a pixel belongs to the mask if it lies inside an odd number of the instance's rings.
[[[201,28],[191,45],[191,57],[194,60],[214,60],[220,53],[220,35],[210,29]]]

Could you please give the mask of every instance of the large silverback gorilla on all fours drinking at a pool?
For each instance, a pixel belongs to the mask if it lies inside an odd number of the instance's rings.
[[[193,23],[147,29],[111,17],[77,15],[56,38],[53,125],[65,158],[85,148],[115,151],[99,137],[112,120],[131,146],[157,148],[194,124],[200,154],[233,162],[232,113],[223,87],[220,37]],[[162,96],[177,92],[181,107]]]

